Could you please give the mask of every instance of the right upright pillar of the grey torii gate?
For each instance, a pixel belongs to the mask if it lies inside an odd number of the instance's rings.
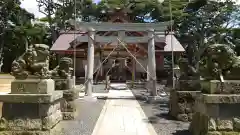
[[[151,90],[151,96],[157,96],[157,77],[156,77],[156,56],[155,56],[155,41],[154,41],[154,29],[148,31],[148,69],[150,73],[149,88]]]

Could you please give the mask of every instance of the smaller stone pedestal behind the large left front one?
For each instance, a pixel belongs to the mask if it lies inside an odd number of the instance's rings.
[[[79,97],[79,91],[73,87],[73,79],[55,79],[56,91],[63,92],[61,112],[63,120],[73,120],[76,116],[75,100]]]

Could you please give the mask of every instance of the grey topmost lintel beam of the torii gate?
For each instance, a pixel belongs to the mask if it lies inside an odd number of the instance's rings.
[[[71,25],[75,25],[74,20],[70,20]],[[88,31],[93,28],[96,31],[147,31],[154,29],[156,31],[165,31],[167,26],[173,24],[173,21],[161,23],[91,23],[91,22],[76,22],[77,29],[81,31]]]

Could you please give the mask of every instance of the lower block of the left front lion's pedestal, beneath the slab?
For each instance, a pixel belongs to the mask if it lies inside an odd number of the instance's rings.
[[[52,128],[61,120],[59,102],[53,104],[4,103],[0,119],[0,134],[50,134]]]

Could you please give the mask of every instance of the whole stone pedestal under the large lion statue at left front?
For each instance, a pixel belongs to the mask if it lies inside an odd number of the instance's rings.
[[[0,134],[58,135],[55,126],[62,119],[62,96],[62,92],[54,91],[51,79],[14,80],[11,93],[0,95]]]

